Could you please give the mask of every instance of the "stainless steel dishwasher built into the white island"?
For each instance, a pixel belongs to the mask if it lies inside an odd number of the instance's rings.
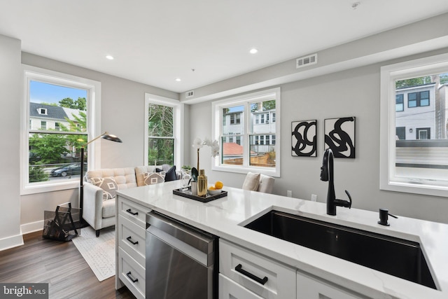
[[[218,298],[216,236],[155,211],[146,227],[146,298]]]

